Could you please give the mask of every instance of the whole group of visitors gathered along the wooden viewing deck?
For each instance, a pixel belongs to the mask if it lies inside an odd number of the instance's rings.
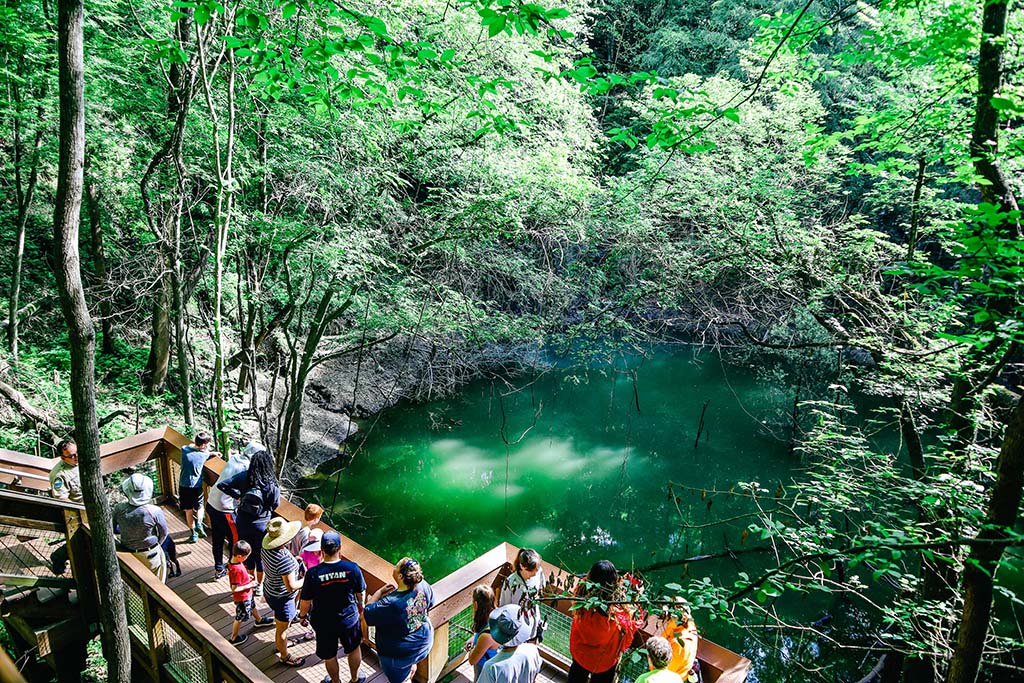
[[[273,517],[281,486],[273,458],[258,443],[230,455],[204,505],[204,466],[220,456],[211,451],[211,436],[200,432],[194,444],[181,450],[179,503],[189,527],[188,542],[206,537],[204,512],[209,519],[214,578],[228,578],[234,604],[229,642],[246,642],[249,636],[241,630],[250,620],[255,628],[273,626],[282,665],[303,666],[305,657],[290,652],[289,644],[315,639],[316,656],[325,660],[328,672],[324,683],[341,683],[339,651],[347,659],[349,681],[364,683],[358,675],[360,644],[368,629],[375,627],[377,653],[389,683],[410,680],[430,652],[434,636],[429,618],[434,594],[420,563],[403,557],[394,565],[393,583],[367,597],[360,568],[341,556],[341,536],[318,528],[323,508],[307,506],[302,521]],[[81,502],[77,446],[68,440],[58,451],[60,462],[50,473],[51,493]],[[169,535],[163,511],[152,503],[153,481],[135,473],[124,479],[121,488],[127,500],[114,509],[121,549],[166,581],[164,544]],[[226,564],[225,545],[230,549]],[[490,586],[474,589],[473,633],[465,648],[475,681],[537,679],[542,664],[538,645],[545,629],[540,606],[544,586],[541,555],[524,548],[497,592]],[[572,611],[568,683],[613,683],[622,654],[643,626],[624,595],[620,572],[608,560],[596,562],[580,583],[571,599],[599,606]],[[269,614],[260,614],[258,597],[264,599]],[[289,638],[295,623],[311,631]],[[665,631],[649,638],[645,649],[650,671],[636,683],[699,680],[697,633],[688,615],[668,618]]]

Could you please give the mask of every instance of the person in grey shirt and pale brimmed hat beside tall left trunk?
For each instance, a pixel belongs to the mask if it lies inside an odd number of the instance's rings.
[[[132,474],[121,482],[127,503],[114,507],[114,527],[120,530],[121,549],[134,555],[157,574],[161,583],[167,582],[167,560],[161,543],[167,537],[164,511],[152,505],[153,481],[144,474]]]

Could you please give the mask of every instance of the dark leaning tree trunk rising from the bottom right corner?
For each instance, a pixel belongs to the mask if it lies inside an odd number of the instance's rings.
[[[998,542],[1008,538],[1017,522],[1017,509],[1024,488],[1024,399],[1017,403],[1002,437],[995,464],[995,485],[988,502],[986,523],[979,539]],[[974,683],[981,668],[981,654],[988,636],[992,610],[992,585],[1002,557],[998,543],[977,544],[964,563],[964,617],[949,665],[947,683]]]

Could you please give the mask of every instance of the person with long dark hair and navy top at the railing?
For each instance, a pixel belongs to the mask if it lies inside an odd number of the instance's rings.
[[[218,481],[217,488],[239,501],[234,512],[239,538],[253,548],[262,548],[266,525],[281,505],[281,485],[273,473],[270,452],[259,445],[253,447],[249,469]],[[263,595],[263,561],[260,556],[261,553],[251,553],[245,561],[246,567],[256,572],[256,596]]]

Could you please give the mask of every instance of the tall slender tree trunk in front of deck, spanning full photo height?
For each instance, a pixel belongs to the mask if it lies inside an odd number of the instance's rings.
[[[114,545],[111,506],[99,464],[96,422],[95,331],[85,301],[78,253],[85,167],[82,0],[59,0],[57,59],[60,84],[60,155],[53,211],[57,247],[54,275],[71,342],[71,398],[75,413],[82,495],[92,530],[93,565],[100,592],[99,620],[110,683],[128,683],[131,653],[124,586]]]

